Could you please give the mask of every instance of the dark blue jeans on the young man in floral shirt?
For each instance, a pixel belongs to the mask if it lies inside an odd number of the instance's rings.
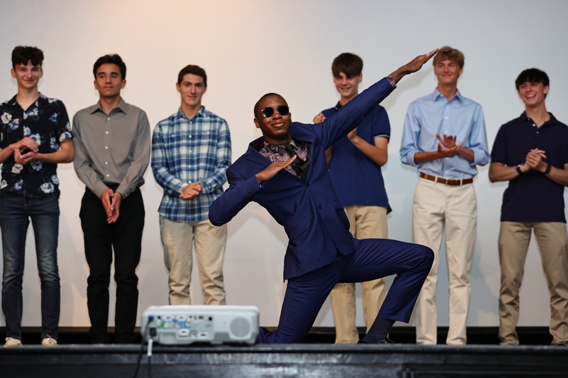
[[[26,233],[34,228],[37,269],[41,281],[41,338],[57,340],[60,284],[57,268],[59,200],[0,196],[2,231],[2,312],[6,317],[6,337],[22,339],[22,277]]]

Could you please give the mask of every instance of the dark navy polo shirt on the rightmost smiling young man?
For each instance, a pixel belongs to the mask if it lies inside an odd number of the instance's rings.
[[[540,128],[523,112],[499,129],[491,161],[516,166],[525,162],[529,150],[546,153],[545,161],[559,169],[568,163],[568,126],[552,114]],[[565,222],[564,187],[535,170],[509,180],[503,194],[501,221]]]

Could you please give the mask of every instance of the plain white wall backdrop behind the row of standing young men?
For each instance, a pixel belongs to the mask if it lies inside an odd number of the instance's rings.
[[[389,74],[419,53],[451,45],[466,57],[458,83],[485,113],[492,147],[501,124],[519,116],[523,104],[514,81],[525,68],[545,70],[551,80],[549,111],[568,122],[568,2],[563,0],[2,0],[0,2],[0,100],[17,91],[10,76],[11,51],[33,45],[45,54],[40,91],[61,99],[72,117],[98,100],[93,87],[94,61],[119,53],[127,65],[123,98],[143,108],[150,123],[177,111],[177,73],[187,64],[208,74],[203,104],[227,119],[233,161],[260,135],[252,107],[264,93],[281,93],[296,121],[333,106],[339,95],[332,83],[331,62],[342,52],[364,62],[362,88]],[[432,66],[404,78],[383,102],[392,135],[389,163],[383,167],[391,238],[411,241],[415,169],[399,158],[402,124],[408,103],[436,86]],[[567,141],[568,142],[568,141]],[[478,233],[471,273],[468,325],[498,325],[499,261],[497,237],[506,183],[491,184],[482,167],[474,186],[478,195]],[[61,326],[87,326],[88,268],[78,212],[84,186],[71,164],[59,166],[61,217],[59,267]],[[162,191],[148,169],[142,187],[146,219],[140,278],[139,313],[149,305],[167,304],[167,276],[162,259],[157,208]],[[535,193],[534,195],[546,195]],[[527,198],[527,201],[530,201]],[[255,204],[229,223],[225,258],[227,302],[256,305],[261,324],[278,323],[286,237],[281,226]],[[438,284],[438,325],[448,325],[448,275],[442,251]],[[1,264],[1,262],[0,262]],[[191,293],[202,303],[197,269]],[[114,303],[114,283],[111,283]],[[24,274],[23,326],[39,326],[40,289],[30,228]],[[361,301],[358,294],[359,306]],[[110,324],[114,324],[111,308]],[[362,310],[358,325],[364,325]],[[519,325],[546,326],[548,291],[534,243],[529,250],[521,290]],[[5,320],[0,317],[0,325]],[[332,326],[331,306],[321,309],[316,326]]]

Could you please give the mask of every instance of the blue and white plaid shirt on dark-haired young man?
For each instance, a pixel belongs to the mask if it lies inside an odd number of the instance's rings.
[[[225,171],[231,165],[227,121],[205,110],[187,119],[181,110],[161,120],[152,136],[152,171],[164,196],[158,212],[175,222],[207,219],[211,203],[223,194]],[[202,192],[192,200],[179,194],[192,182]]]

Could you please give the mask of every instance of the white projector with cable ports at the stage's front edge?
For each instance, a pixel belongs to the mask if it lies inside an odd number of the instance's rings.
[[[142,313],[145,341],[162,345],[192,343],[254,344],[258,334],[255,306],[150,306]]]

